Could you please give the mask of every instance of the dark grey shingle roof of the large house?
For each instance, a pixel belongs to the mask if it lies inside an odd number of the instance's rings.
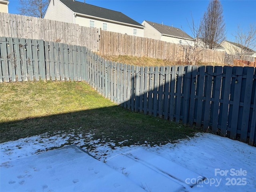
[[[60,0],[60,1],[64,5],[66,5],[68,8],[70,8],[73,12],[76,12],[76,13],[144,27],[142,26],[142,24],[136,22],[132,18],[123,14],[122,12],[90,5],[90,4],[79,2],[79,1],[73,1],[73,0]]]

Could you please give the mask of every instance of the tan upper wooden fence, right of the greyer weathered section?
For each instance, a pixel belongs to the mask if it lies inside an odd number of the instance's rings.
[[[101,55],[130,55],[188,62],[193,52],[198,62],[224,64],[225,52],[100,30]]]

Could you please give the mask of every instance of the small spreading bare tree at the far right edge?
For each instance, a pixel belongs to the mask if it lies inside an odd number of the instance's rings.
[[[232,34],[235,38],[234,54],[240,57],[240,60],[248,53],[256,49],[256,24],[250,24],[247,29],[238,25],[237,31]]]

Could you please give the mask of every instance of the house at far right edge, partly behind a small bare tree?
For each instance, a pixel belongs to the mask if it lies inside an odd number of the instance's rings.
[[[223,46],[225,48],[225,51],[227,54],[238,55],[240,57],[242,57],[242,56],[256,57],[256,51],[254,51],[246,46],[242,46],[239,43],[234,43],[234,42],[230,42],[230,41],[222,41],[220,44],[221,44],[221,46]]]

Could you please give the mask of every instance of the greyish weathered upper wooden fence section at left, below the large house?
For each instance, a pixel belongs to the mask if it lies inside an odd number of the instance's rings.
[[[42,39],[72,45],[86,46],[97,52],[97,28],[79,26],[48,19],[0,12],[0,37]]]

